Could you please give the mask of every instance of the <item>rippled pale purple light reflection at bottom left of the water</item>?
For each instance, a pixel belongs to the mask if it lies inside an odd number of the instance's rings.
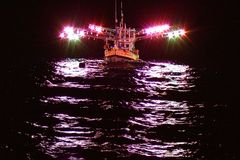
[[[97,122],[101,118],[73,117],[68,114],[47,114],[46,118],[53,118],[58,122],[52,126],[52,130],[55,132],[54,139],[45,137],[39,144],[49,156],[59,158],[58,155],[63,153],[65,149],[97,146],[93,141],[96,131],[90,127],[80,126],[79,121]]]

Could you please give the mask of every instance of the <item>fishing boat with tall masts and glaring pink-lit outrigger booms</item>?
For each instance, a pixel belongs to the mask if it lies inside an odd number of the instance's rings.
[[[117,0],[115,0],[115,28],[106,28],[90,24],[88,28],[75,28],[72,26],[64,27],[60,33],[61,39],[76,41],[80,38],[101,39],[106,43],[104,45],[104,58],[106,62],[122,61],[141,61],[139,59],[139,50],[135,48],[135,43],[139,40],[148,38],[178,38],[185,36],[184,29],[176,29],[169,24],[136,30],[127,28],[124,23],[123,4],[121,2],[121,21],[118,24],[117,18]]]

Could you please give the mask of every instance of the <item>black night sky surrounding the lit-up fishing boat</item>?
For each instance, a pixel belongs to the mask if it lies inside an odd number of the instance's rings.
[[[144,59],[167,57],[222,65],[226,61],[230,64],[238,54],[240,14],[235,3],[184,0],[123,0],[123,3],[128,26],[143,28],[166,21],[191,31],[181,46],[168,49],[162,40],[137,43]],[[114,0],[27,0],[3,6],[5,55],[16,59],[66,56],[66,47],[57,39],[64,24],[84,26],[95,22],[114,26]],[[102,45],[101,41],[83,40],[69,56],[101,58]]]

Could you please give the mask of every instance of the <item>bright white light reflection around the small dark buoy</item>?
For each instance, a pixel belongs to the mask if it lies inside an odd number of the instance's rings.
[[[43,85],[51,88],[90,88],[90,84],[84,83],[84,81],[104,76],[104,72],[99,66],[103,61],[84,61],[85,67],[79,67],[79,63],[83,62],[81,59],[65,59],[54,63],[55,75],[52,80],[46,80]]]

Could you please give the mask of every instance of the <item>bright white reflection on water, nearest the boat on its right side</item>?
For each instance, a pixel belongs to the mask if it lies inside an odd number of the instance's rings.
[[[196,77],[191,75],[191,69],[187,65],[155,62],[150,63],[148,69],[137,71],[141,76],[135,78],[136,83],[143,86],[138,91],[147,92],[151,96],[168,90],[188,92],[195,87],[192,80]]]

